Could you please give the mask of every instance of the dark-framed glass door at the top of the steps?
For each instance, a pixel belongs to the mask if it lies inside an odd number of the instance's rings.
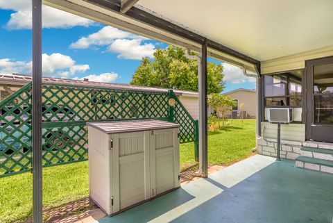
[[[333,142],[333,57],[307,61],[307,139]]]

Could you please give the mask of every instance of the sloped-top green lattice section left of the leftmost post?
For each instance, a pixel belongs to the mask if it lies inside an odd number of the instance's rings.
[[[31,84],[0,102],[0,176],[31,167]]]

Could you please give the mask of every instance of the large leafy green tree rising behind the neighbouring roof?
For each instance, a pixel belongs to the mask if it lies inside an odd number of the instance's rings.
[[[198,53],[191,53],[198,56]],[[207,63],[207,92],[219,93],[224,89],[223,66]],[[185,49],[169,46],[157,48],[154,59],[142,58],[135,70],[133,85],[177,88],[198,91],[198,62],[185,56]]]

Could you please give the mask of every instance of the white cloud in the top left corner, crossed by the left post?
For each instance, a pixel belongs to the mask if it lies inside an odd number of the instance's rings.
[[[32,6],[28,0],[0,0],[0,8],[14,10],[10,15],[10,20],[6,24],[9,29],[31,28],[32,26]],[[42,6],[42,26],[44,28],[70,28],[73,26],[89,26],[92,20],[66,13],[56,8]]]

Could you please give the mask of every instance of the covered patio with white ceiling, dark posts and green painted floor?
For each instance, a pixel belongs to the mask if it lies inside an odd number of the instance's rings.
[[[300,167],[333,171],[332,144],[309,147],[308,142],[332,142],[328,135],[333,128],[332,1],[33,0],[34,222],[42,222],[42,3],[200,53],[198,151],[199,174],[204,178],[99,222],[332,222],[333,175],[296,168],[294,161],[300,156]],[[250,157],[209,176],[208,57],[257,78],[257,149],[267,155]],[[318,58],[324,58],[327,67],[317,72],[325,77],[316,82],[312,68],[323,61],[312,60]],[[269,77],[272,94],[265,90]],[[291,78],[295,81],[283,81]],[[311,90],[319,87],[328,90]],[[319,118],[315,123],[314,96],[327,98],[316,108],[325,110],[324,125]],[[275,125],[268,122],[272,106],[293,110],[295,122],[282,129],[281,137],[282,158],[293,160],[268,157],[280,151]],[[315,134],[315,127],[321,134]]]

